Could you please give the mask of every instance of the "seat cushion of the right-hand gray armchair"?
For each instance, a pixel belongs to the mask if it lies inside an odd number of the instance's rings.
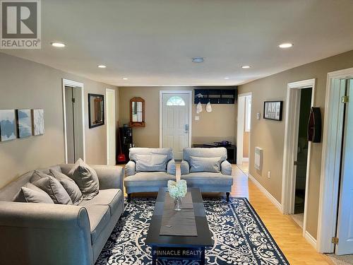
[[[222,175],[222,173],[194,172],[188,175],[181,175],[188,186],[212,185],[212,186],[232,186],[233,177]]]

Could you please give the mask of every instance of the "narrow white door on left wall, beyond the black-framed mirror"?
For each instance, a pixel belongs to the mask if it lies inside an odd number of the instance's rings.
[[[115,165],[115,90],[106,89],[106,106],[107,106],[107,165]]]

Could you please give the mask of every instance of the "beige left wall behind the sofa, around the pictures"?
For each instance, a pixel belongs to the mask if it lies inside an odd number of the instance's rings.
[[[44,109],[45,126],[43,136],[0,142],[0,187],[29,170],[64,163],[61,78],[84,83],[86,161],[107,163],[105,125],[88,129],[88,93],[117,88],[0,53],[0,108]]]

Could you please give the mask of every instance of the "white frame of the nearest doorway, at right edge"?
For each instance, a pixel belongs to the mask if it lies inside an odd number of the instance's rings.
[[[337,228],[344,116],[344,105],[340,102],[342,95],[335,89],[340,86],[340,79],[347,78],[353,78],[353,68],[330,72],[326,81],[317,239],[318,252],[321,253],[333,253],[335,249],[331,239]]]

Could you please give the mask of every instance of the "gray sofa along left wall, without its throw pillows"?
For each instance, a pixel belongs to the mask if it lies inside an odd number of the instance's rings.
[[[63,172],[73,165],[49,169]],[[122,167],[92,165],[100,192],[78,206],[13,202],[32,172],[0,189],[0,264],[94,264],[124,211]]]

